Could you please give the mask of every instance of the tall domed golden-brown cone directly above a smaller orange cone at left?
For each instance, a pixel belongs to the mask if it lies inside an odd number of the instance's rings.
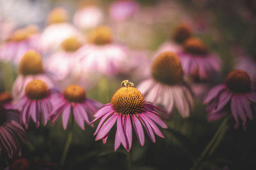
[[[20,60],[19,72],[23,76],[44,73],[41,55],[35,50],[28,50]]]

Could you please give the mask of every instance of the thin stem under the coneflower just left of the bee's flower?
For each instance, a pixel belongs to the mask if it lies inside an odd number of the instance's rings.
[[[64,164],[65,164],[65,160],[66,160],[66,157],[67,157],[68,149],[69,149],[69,146],[70,146],[71,141],[72,141],[72,129],[73,129],[73,124],[74,124],[74,118],[73,118],[73,111],[72,111],[72,108],[71,108],[71,126],[70,126],[70,128],[68,129],[67,141],[66,141],[66,143],[65,143],[64,150],[63,150],[63,153],[62,153],[62,155],[61,155],[60,169],[62,169],[62,167],[63,167]]]

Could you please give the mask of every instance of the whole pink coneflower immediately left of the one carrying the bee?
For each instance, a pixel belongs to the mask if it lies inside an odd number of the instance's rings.
[[[52,98],[52,103],[55,103],[56,108],[51,113],[51,120],[56,122],[62,114],[63,129],[67,129],[68,119],[72,113],[81,129],[84,130],[84,121],[90,124],[92,121],[91,113],[95,113],[97,108],[102,104],[93,99],[86,97],[86,93],[79,85],[69,85],[63,94],[56,94]]]

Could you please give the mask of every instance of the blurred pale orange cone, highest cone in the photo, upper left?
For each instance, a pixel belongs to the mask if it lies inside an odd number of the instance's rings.
[[[48,15],[48,24],[67,22],[68,13],[64,8],[55,8]]]

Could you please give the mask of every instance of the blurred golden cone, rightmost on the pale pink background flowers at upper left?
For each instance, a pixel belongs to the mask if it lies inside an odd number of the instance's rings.
[[[88,41],[95,45],[105,45],[111,43],[113,41],[112,32],[109,27],[97,27],[89,34]]]

